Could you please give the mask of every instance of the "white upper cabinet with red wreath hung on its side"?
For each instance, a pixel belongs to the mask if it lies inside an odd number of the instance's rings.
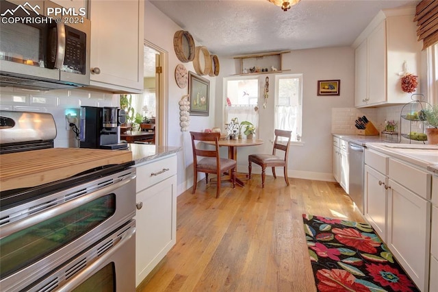
[[[419,76],[422,43],[417,41],[415,8],[379,12],[355,40],[355,106],[406,104],[400,73]],[[419,76],[419,80],[420,80]]]

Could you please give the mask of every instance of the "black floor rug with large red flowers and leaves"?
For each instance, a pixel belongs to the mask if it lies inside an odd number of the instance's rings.
[[[419,291],[370,225],[302,219],[318,291]]]

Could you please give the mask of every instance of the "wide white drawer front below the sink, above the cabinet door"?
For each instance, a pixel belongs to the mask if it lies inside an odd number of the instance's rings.
[[[431,175],[394,159],[389,159],[389,178],[430,200]]]

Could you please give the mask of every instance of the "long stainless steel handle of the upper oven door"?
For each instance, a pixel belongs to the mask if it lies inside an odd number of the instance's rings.
[[[13,223],[10,223],[1,228],[0,239],[9,236],[10,234],[14,234],[15,232],[19,232],[25,228],[29,228],[38,223],[46,221],[47,219],[51,219],[57,215],[61,215],[69,210],[73,210],[83,204],[87,204],[88,202],[93,201],[94,199],[99,199],[99,197],[103,197],[115,191],[117,188],[121,188],[128,184],[133,179],[136,178],[136,175],[128,175],[120,182],[116,182],[115,184],[110,184],[109,186],[105,186],[105,188],[101,188],[100,190],[94,191],[93,193],[89,193],[87,195],[83,195],[81,197],[77,197],[76,199],[72,199],[69,202],[61,204],[59,206],[55,206],[53,208],[49,208],[40,213],[36,213],[34,216],[27,217],[23,220],[18,220]]]

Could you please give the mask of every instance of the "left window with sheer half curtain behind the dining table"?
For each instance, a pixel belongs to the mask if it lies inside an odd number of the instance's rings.
[[[257,77],[231,77],[225,79],[224,92],[227,93],[225,106],[225,123],[237,117],[239,122],[249,121],[259,129],[258,100],[259,80]]]

